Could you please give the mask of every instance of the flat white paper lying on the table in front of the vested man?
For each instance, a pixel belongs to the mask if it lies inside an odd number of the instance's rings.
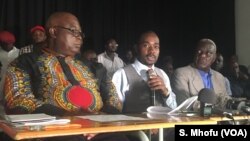
[[[111,122],[111,121],[124,121],[124,120],[148,120],[147,118],[126,116],[126,115],[86,115],[86,116],[77,116],[83,119],[89,119],[99,122]]]

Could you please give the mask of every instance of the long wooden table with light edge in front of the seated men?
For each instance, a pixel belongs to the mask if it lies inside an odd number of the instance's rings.
[[[100,115],[102,116],[102,115]],[[145,117],[142,115],[130,115]],[[135,131],[147,129],[160,129],[160,136],[163,140],[163,128],[174,127],[175,125],[200,125],[200,124],[216,124],[216,120],[203,117],[175,117],[166,116],[162,119],[148,119],[138,121],[112,121],[112,122],[97,122],[79,117],[64,117],[71,120],[70,124],[49,128],[34,128],[22,127],[15,128],[6,123],[0,123],[0,128],[14,140],[45,138],[55,136],[79,135],[85,133],[107,133],[121,131]]]

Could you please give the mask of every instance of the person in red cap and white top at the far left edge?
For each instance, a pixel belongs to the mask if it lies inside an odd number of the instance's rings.
[[[14,46],[15,36],[9,31],[0,31],[0,61],[2,62],[0,81],[0,100],[2,100],[5,73],[8,65],[18,57],[19,49]]]

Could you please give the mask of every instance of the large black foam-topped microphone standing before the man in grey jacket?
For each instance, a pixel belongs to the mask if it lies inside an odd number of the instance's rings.
[[[216,95],[213,90],[203,88],[198,93],[198,101],[200,101],[200,115],[210,117],[213,105],[216,103]]]

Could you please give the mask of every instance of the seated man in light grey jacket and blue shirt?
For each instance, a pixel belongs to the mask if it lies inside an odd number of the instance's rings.
[[[226,91],[224,76],[211,69],[216,58],[216,45],[210,39],[201,39],[196,48],[194,62],[178,68],[172,77],[172,88],[176,94],[177,105],[189,97],[198,95],[203,88],[213,89],[216,94],[216,107],[224,108],[229,99]],[[193,105],[199,109],[199,102]]]

